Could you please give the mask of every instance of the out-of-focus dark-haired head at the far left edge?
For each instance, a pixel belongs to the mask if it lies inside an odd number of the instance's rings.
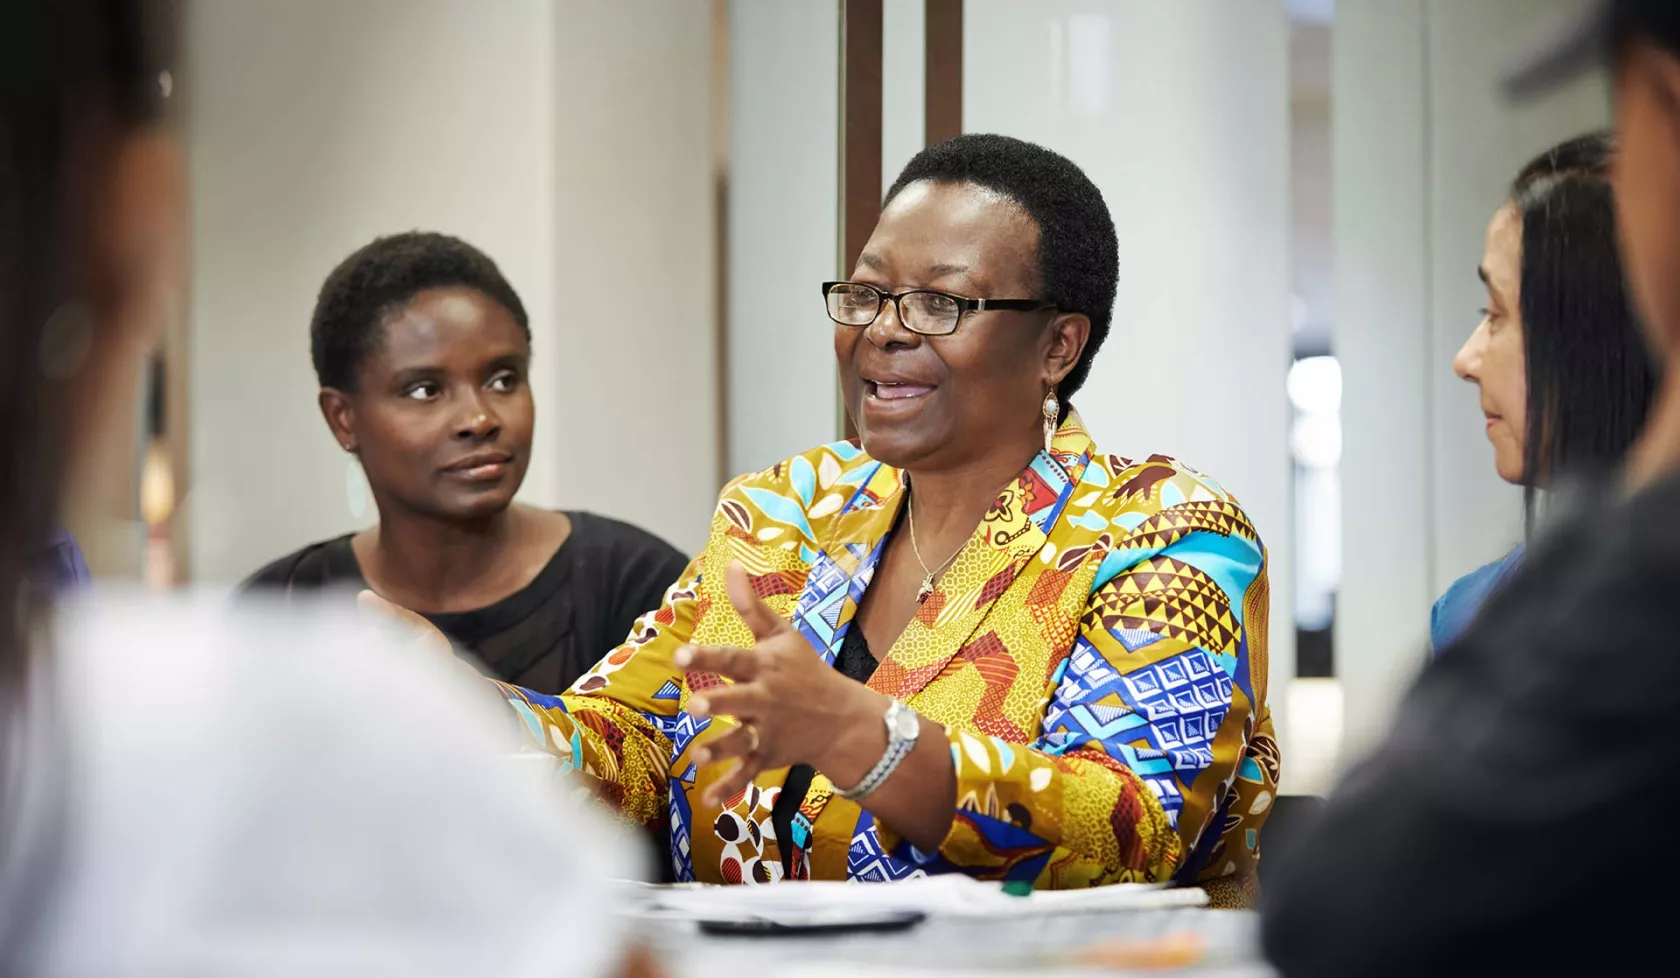
[[[183,170],[151,123],[166,24],[138,0],[10,0],[0,17],[0,667],[60,489],[131,423],[180,306]]]

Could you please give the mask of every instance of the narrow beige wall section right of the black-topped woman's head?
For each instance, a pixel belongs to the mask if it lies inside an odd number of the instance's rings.
[[[553,37],[558,397],[539,430],[568,506],[699,553],[722,477],[711,3],[561,3]]]

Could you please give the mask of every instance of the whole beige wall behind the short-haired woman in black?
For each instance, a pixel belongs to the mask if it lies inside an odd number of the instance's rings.
[[[307,323],[334,262],[405,229],[482,247],[531,313],[524,497],[702,543],[709,18],[687,0],[190,5],[195,578],[371,519],[314,408]]]

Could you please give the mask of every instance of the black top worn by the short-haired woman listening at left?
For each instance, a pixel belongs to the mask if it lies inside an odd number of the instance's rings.
[[[675,548],[645,529],[593,513],[566,516],[571,536],[529,585],[484,608],[425,615],[499,679],[538,692],[564,691],[623,642],[687,565]],[[287,555],[244,586],[287,593],[366,588],[351,536]]]

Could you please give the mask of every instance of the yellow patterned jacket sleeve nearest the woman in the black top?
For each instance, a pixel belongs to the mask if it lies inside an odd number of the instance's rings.
[[[689,563],[660,607],[640,617],[623,645],[585,672],[563,696],[497,682],[524,721],[526,739],[581,775],[632,822],[665,817],[670,758],[692,736],[679,709],[682,670],[672,654],[694,632],[701,565]]]

